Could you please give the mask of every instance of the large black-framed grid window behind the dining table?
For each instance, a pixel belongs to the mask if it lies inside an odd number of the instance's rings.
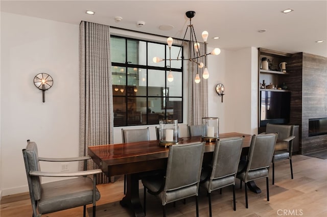
[[[179,49],[172,46],[174,59]],[[182,123],[183,63],[172,61],[174,80],[168,82],[169,61],[154,63],[153,57],[169,59],[168,45],[111,36],[114,126],[158,124],[160,119]]]

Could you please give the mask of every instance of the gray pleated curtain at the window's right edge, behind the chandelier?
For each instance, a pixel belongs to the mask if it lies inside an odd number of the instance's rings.
[[[189,43],[189,46],[193,46]],[[192,48],[192,47],[191,47]],[[193,48],[192,48],[193,49]],[[192,50],[191,49],[191,50]],[[200,54],[204,55],[204,44],[200,43]],[[197,62],[204,63],[204,57]],[[198,68],[197,64],[189,61],[189,111],[188,124],[200,125],[202,124],[202,117],[208,115],[208,79],[203,79],[203,68]],[[200,74],[201,82],[196,84],[194,82],[197,70]],[[210,71],[209,71],[210,73]]]

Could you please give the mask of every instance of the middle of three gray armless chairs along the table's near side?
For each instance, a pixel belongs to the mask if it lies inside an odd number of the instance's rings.
[[[243,139],[239,137],[221,139],[216,142],[212,167],[203,168],[200,186],[208,193],[209,216],[212,216],[211,192],[232,185],[233,209],[236,210],[235,180],[242,152]]]

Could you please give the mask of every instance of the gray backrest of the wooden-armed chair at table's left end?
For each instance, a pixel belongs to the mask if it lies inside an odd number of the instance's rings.
[[[30,171],[40,171],[38,151],[35,142],[28,141],[26,149],[22,150],[29,191],[32,201],[41,199],[41,177],[31,176]]]

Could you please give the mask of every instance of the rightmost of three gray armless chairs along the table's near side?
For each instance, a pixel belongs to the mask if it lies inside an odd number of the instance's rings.
[[[253,135],[245,165],[240,163],[236,177],[245,183],[245,206],[248,208],[247,182],[266,178],[269,201],[268,172],[277,141],[277,133]]]

